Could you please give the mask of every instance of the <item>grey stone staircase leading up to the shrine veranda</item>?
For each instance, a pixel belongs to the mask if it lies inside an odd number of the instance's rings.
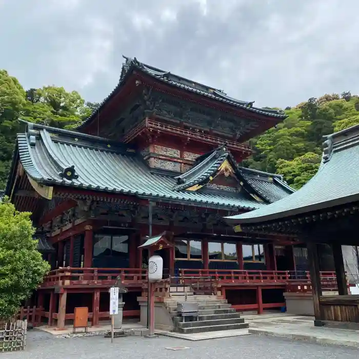
[[[245,329],[248,324],[244,323],[239,313],[231,308],[231,305],[217,295],[195,295],[190,288],[176,288],[177,292],[171,290],[171,297],[166,298],[164,304],[169,311],[174,331],[179,333],[202,333],[217,330]],[[198,321],[185,322],[177,315],[177,303],[197,302],[199,315]]]

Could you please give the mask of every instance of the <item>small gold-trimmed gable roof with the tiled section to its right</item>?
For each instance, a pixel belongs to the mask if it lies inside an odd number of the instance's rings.
[[[272,203],[294,192],[284,182],[282,175],[237,166],[226,145],[198,157],[189,171],[175,177],[177,186],[174,189],[196,191],[222,173],[227,176],[233,174],[238,185],[257,201],[260,196],[264,201]]]

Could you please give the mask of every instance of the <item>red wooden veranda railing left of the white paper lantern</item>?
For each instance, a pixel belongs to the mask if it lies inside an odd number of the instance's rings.
[[[139,268],[59,268],[49,272],[41,287],[72,285],[113,285],[117,278],[127,286],[147,281],[147,270]]]

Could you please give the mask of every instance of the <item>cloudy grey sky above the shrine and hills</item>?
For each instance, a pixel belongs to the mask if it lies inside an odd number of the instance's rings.
[[[358,0],[0,0],[0,68],[102,101],[122,54],[257,106],[359,93]]]

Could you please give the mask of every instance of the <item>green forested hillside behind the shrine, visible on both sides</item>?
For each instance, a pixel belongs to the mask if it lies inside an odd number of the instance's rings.
[[[24,89],[15,77],[0,70],[0,190],[6,185],[16,133],[24,129],[19,117],[73,128],[97,106],[63,87]],[[300,188],[321,162],[322,136],[359,124],[359,96],[326,94],[285,111],[288,118],[283,123],[250,141],[254,153],[244,165],[284,174],[288,184]]]

